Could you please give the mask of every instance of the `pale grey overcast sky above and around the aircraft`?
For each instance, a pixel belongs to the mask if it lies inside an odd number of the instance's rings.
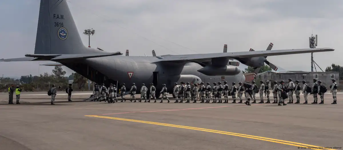
[[[108,52],[129,49],[131,56],[194,54],[228,51],[308,48],[308,37],[318,34],[314,53],[324,70],[341,64],[343,52],[342,0],[68,0],[85,45],[86,28],[95,29],[91,46]],[[40,0],[0,1],[0,59],[34,53]],[[284,70],[310,71],[308,54],[271,56]],[[46,62],[1,62],[0,76],[51,73]],[[246,66],[240,66],[244,69]],[[67,75],[71,70],[64,67]],[[319,68],[317,68],[319,70]]]

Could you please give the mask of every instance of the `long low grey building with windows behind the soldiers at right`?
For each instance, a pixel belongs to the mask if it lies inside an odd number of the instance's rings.
[[[299,80],[301,83],[303,80],[306,80],[306,83],[309,86],[312,86],[313,79],[321,81],[324,86],[327,88],[332,84],[332,79],[336,79],[336,83],[339,83],[339,73],[338,72],[305,72],[305,71],[266,71],[259,73],[256,76],[256,80],[270,80],[280,82],[284,80],[285,83],[288,83],[288,78],[291,78],[293,82]]]

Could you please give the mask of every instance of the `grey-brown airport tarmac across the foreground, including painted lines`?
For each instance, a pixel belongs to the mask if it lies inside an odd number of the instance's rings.
[[[0,150],[341,149],[343,94],[337,97],[338,104],[330,93],[324,104],[303,104],[301,96],[301,104],[285,106],[232,99],[2,104]]]

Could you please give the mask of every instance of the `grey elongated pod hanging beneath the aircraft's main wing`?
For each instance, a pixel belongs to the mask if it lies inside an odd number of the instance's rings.
[[[205,66],[199,69],[198,72],[208,76],[232,76],[239,74],[241,71],[236,66]]]

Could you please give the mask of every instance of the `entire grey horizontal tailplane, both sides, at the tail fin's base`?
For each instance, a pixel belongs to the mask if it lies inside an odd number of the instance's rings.
[[[87,58],[97,58],[97,57],[107,57],[114,55],[122,55],[121,52],[115,53],[92,53],[92,54],[26,54],[25,58],[13,58],[13,59],[1,59],[2,61],[60,61],[60,60],[70,60],[70,59],[87,59]]]

